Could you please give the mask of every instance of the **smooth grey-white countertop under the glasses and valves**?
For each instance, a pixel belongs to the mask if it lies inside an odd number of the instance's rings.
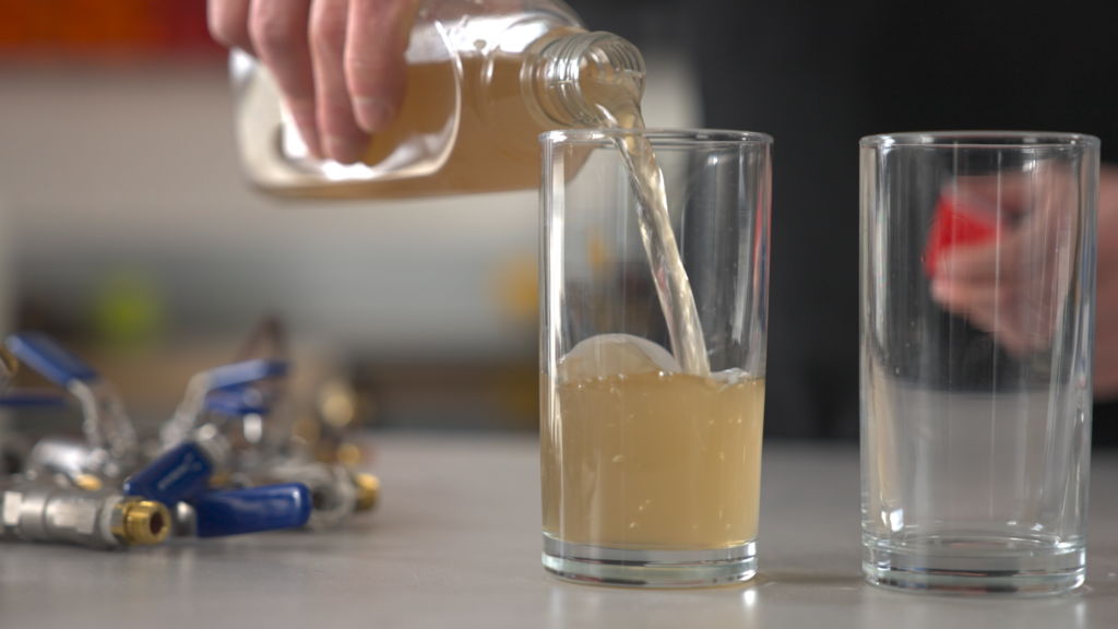
[[[1112,454],[1092,466],[1084,588],[958,598],[862,580],[854,448],[766,447],[758,576],[652,591],[544,573],[534,436],[373,440],[383,499],[341,531],[127,552],[0,545],[0,627],[1118,627]]]

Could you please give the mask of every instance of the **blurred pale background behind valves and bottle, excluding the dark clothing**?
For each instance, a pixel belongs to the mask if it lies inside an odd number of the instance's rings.
[[[571,4],[646,53],[650,126],[702,124],[678,2]],[[0,0],[0,331],[72,345],[141,426],[271,314],[307,407],[341,382],[377,426],[536,430],[537,208],[260,196],[205,0]]]

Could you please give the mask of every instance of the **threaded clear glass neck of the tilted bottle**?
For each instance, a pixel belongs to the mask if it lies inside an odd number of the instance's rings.
[[[544,36],[529,49],[520,76],[529,111],[548,129],[618,126],[617,112],[639,112],[644,95],[641,51],[610,32]]]

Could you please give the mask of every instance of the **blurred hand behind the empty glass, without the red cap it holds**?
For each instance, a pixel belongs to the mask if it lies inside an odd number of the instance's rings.
[[[983,179],[986,179],[985,181]],[[1002,208],[1011,217],[1033,207],[1016,227],[983,228],[982,242],[945,247],[928,267],[931,294],[944,307],[992,331],[1013,353],[1051,341],[1058,307],[1070,278],[1071,215],[1076,193],[1069,173],[1041,171],[1035,179],[1003,178]],[[988,205],[996,182],[974,178],[963,196]],[[947,194],[948,190],[945,190]],[[987,223],[988,224],[988,223]],[[996,242],[1001,233],[1001,244]],[[999,248],[998,248],[999,247]],[[1098,245],[1095,287],[1095,396],[1118,396],[1118,167],[1099,172]],[[995,273],[1001,267],[1001,282]],[[1057,275],[1063,275],[1058,278]]]

